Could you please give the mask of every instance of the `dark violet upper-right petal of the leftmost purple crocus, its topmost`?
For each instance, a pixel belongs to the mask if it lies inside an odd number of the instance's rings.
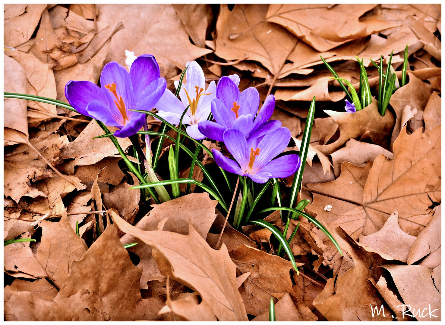
[[[134,97],[138,101],[142,91],[154,80],[159,79],[159,66],[154,56],[150,54],[139,55],[131,65],[130,79]]]

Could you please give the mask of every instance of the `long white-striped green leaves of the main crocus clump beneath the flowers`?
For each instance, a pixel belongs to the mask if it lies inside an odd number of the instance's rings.
[[[178,89],[176,91],[176,96],[179,95],[179,91],[182,86],[182,80],[184,78],[186,70],[182,72]],[[353,88],[352,88],[353,89]],[[64,107],[70,111],[76,111],[73,107],[71,107],[69,104],[61,102],[59,100],[50,99],[46,97],[40,97],[35,95],[26,95],[26,94],[15,94],[15,93],[4,93],[4,97],[8,98],[18,98],[18,99],[26,99],[26,100],[33,100],[33,101],[39,101],[43,103],[49,103],[53,105],[57,105],[59,107]],[[184,110],[182,117],[186,114],[188,107]],[[194,184],[196,186],[201,187],[203,190],[205,190],[207,193],[209,193],[213,198],[218,200],[220,210],[224,210],[227,213],[227,218],[229,216],[233,219],[233,226],[235,229],[240,229],[241,226],[244,226],[247,224],[247,222],[251,222],[253,224],[257,224],[260,226],[263,226],[270,230],[272,234],[274,234],[275,238],[277,238],[279,242],[279,248],[277,254],[281,257],[284,256],[284,253],[287,254],[289,257],[292,265],[294,266],[295,270],[298,273],[298,269],[295,264],[294,256],[291,252],[291,248],[289,246],[290,242],[294,238],[299,222],[295,227],[295,230],[293,230],[290,238],[286,240],[285,236],[287,234],[288,227],[290,225],[290,221],[292,219],[296,220],[299,216],[302,216],[303,218],[307,218],[310,222],[312,222],[315,226],[320,228],[327,236],[332,240],[336,248],[340,250],[340,246],[336,242],[336,240],[332,237],[332,235],[328,232],[328,230],[316,219],[313,218],[311,215],[303,212],[303,209],[307,206],[308,200],[301,200],[296,204],[297,202],[297,194],[301,188],[301,181],[303,178],[303,171],[304,166],[307,158],[307,153],[309,150],[309,143],[311,138],[311,131],[312,131],[312,123],[314,120],[315,115],[315,97],[312,99],[312,103],[309,108],[309,113],[306,120],[306,126],[303,132],[303,139],[302,139],[302,145],[299,151],[299,157],[301,159],[301,166],[299,170],[294,175],[294,180],[291,186],[291,193],[290,193],[290,200],[287,202],[287,204],[284,204],[282,201],[282,193],[280,190],[279,180],[277,178],[272,178],[268,182],[264,184],[262,188],[259,188],[259,184],[251,182],[247,180],[246,177],[239,176],[235,189],[233,188],[231,184],[231,178],[226,173],[225,170],[219,168],[219,172],[221,172],[222,178],[219,177],[218,180],[223,180],[220,183],[217,183],[214,179],[214,176],[210,174],[209,170],[207,170],[206,166],[204,166],[200,160],[198,159],[199,154],[201,151],[203,151],[206,155],[208,155],[210,158],[213,158],[212,152],[206,145],[203,143],[203,140],[195,140],[191,138],[186,130],[182,127],[182,118],[180,120],[180,123],[178,126],[174,126],[170,123],[168,123],[165,119],[162,119],[158,115],[154,114],[150,111],[138,111],[141,113],[144,113],[146,115],[150,115],[152,117],[155,117],[156,119],[160,120],[162,122],[161,126],[159,127],[159,131],[138,131],[139,135],[144,136],[157,136],[158,142],[155,144],[155,150],[153,159],[151,158],[151,155],[148,153],[149,150],[147,150],[147,159],[143,159],[144,153],[142,152],[142,148],[139,145],[138,136],[135,135],[132,139],[130,137],[130,140],[133,143],[133,155],[135,158],[139,159],[141,162],[140,164],[133,163],[125,154],[124,150],[121,148],[120,144],[117,142],[117,138],[113,135],[112,132],[108,130],[108,128],[101,123],[100,121],[97,121],[97,124],[102,128],[102,130],[105,132],[104,135],[98,136],[97,138],[102,137],[109,137],[115,147],[117,148],[117,151],[120,153],[122,159],[124,160],[125,164],[127,165],[130,172],[132,172],[136,177],[139,179],[140,185],[133,186],[131,189],[140,189],[142,190],[142,194],[145,196],[146,200],[149,201],[150,197],[153,198],[154,202],[157,204],[160,204],[161,202],[169,201],[170,195],[168,194],[165,186],[171,186],[171,194],[173,198],[178,198],[181,193],[179,190],[179,184],[187,184],[186,191],[184,195],[190,193],[190,185]],[[211,115],[209,119],[211,119]],[[176,139],[171,137],[167,134],[168,131],[174,130],[176,131]],[[170,180],[163,180],[159,181],[155,172],[159,168],[159,157],[163,148],[163,143],[165,139],[169,139],[174,143],[174,149],[170,145],[170,151],[168,155],[168,167],[170,171]],[[188,139],[188,143],[185,142],[185,140]],[[150,143],[148,141],[147,143]],[[190,145],[192,145],[194,148],[190,150]],[[188,178],[179,178],[178,171],[179,169],[179,150],[182,150],[183,153],[190,156],[192,159],[191,166],[190,166],[190,173]],[[194,152],[193,152],[194,151]],[[199,182],[196,179],[193,179],[193,171],[194,167],[197,165],[201,170],[202,174],[206,178],[206,184],[203,182]],[[143,171],[143,167],[145,167],[145,172]],[[233,181],[233,180],[232,180]],[[235,211],[231,214],[231,207],[234,202],[235,196],[236,196],[236,189],[238,187],[239,182],[242,183],[242,190],[240,190],[238,195],[238,200],[235,204]],[[266,191],[269,190],[270,193],[270,203],[268,204],[268,207],[264,207],[264,198],[268,197],[266,195]],[[226,195],[223,195],[226,194]],[[232,203],[230,207],[227,205],[227,202],[225,201],[225,198],[231,196],[232,197]],[[263,199],[262,199],[263,198]],[[257,208],[257,203],[260,202],[261,205],[263,205],[260,208]],[[283,234],[271,223],[264,221],[262,219],[259,219],[259,216],[262,216],[264,213],[272,212],[275,210],[280,210],[280,216],[284,223],[284,231]],[[287,212],[287,214],[283,213]],[[257,218],[255,220],[251,220],[252,216],[256,216]],[[97,229],[98,230],[98,229]],[[78,223],[76,226],[76,233],[79,234],[79,227]],[[100,235],[100,231],[97,231],[97,234]],[[26,238],[25,238],[26,239]],[[20,239],[23,241],[22,239]],[[29,241],[29,239],[27,240]],[[131,246],[136,245],[137,243],[131,243],[128,244],[126,248],[129,248]],[[6,245],[6,242],[5,242]]]

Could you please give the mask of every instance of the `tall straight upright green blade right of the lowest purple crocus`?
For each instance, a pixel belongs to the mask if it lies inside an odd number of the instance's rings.
[[[354,89],[354,87],[352,87],[352,89]],[[294,175],[294,180],[292,182],[291,199],[289,203],[289,207],[291,208],[295,205],[295,200],[297,198],[297,194],[301,186],[301,180],[303,179],[304,166],[306,165],[307,153],[309,152],[309,144],[311,143],[311,133],[312,133],[312,124],[314,122],[314,116],[315,116],[315,96],[312,99],[311,106],[309,107],[309,112],[307,113],[306,125],[304,126],[303,138],[301,140],[301,147],[300,151],[298,152],[301,163],[300,163],[300,168],[296,171]],[[287,214],[287,218],[289,218],[289,215],[290,213]]]

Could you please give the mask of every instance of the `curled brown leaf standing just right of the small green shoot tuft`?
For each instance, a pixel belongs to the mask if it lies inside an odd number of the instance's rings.
[[[412,109],[417,110],[417,114],[414,116],[414,119],[419,121],[418,123],[415,123],[414,127],[414,130],[417,130],[417,128],[423,126],[422,114],[431,95],[431,91],[426,87],[426,83],[416,78],[411,73],[408,73],[408,75],[409,83],[397,89],[389,100],[389,104],[396,112],[396,124],[394,125],[394,130],[392,130],[391,148],[403,128],[401,118],[405,106],[409,105]]]

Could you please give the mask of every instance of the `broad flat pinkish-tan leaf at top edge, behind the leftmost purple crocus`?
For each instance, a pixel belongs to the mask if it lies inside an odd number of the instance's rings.
[[[101,37],[106,39],[119,21],[125,26],[124,30],[113,36],[113,47],[107,60],[125,64],[125,50],[134,51],[136,55],[150,53],[166,73],[169,69],[176,71],[177,66],[185,67],[187,61],[212,52],[190,43],[189,35],[171,4],[136,4],[130,7],[126,4],[98,4],[97,9],[97,21],[110,26]],[[101,40],[93,40],[93,46],[96,46],[95,42]]]

